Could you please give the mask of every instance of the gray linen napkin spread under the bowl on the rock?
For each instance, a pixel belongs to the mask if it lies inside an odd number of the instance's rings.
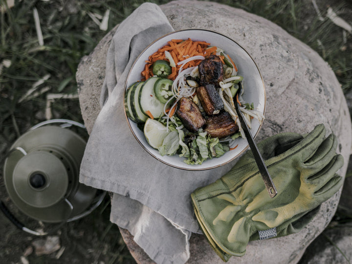
[[[207,171],[176,169],[148,154],[129,129],[123,102],[127,74],[145,47],[173,30],[152,3],[139,6],[118,26],[80,181],[114,193],[110,220],[128,229],[156,263],[178,264],[189,258],[191,232],[201,233],[190,194],[220,178],[234,162]]]

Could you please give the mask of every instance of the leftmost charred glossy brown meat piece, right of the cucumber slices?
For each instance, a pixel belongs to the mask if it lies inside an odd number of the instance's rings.
[[[205,124],[198,106],[186,97],[178,101],[176,115],[190,132],[197,132]]]

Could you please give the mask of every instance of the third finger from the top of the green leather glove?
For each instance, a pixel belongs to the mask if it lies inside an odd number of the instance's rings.
[[[315,186],[315,190],[323,188],[327,182],[334,177],[335,173],[343,166],[344,159],[342,155],[335,155],[330,163],[325,166],[319,173],[307,179],[307,182]]]

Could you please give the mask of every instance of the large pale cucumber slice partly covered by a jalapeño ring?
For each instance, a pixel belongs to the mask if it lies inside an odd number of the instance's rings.
[[[146,114],[147,111],[154,118],[159,118],[164,114],[164,104],[161,103],[155,95],[154,84],[159,77],[151,77],[144,82],[143,87],[139,91],[139,105],[141,110]]]

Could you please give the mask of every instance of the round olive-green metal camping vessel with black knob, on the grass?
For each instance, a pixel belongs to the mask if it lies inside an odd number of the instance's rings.
[[[30,218],[62,224],[78,220],[98,207],[106,194],[79,182],[86,141],[68,129],[72,126],[85,128],[66,119],[42,122],[20,136],[5,157],[8,195]],[[47,234],[26,228],[2,201],[0,209],[23,231]]]

